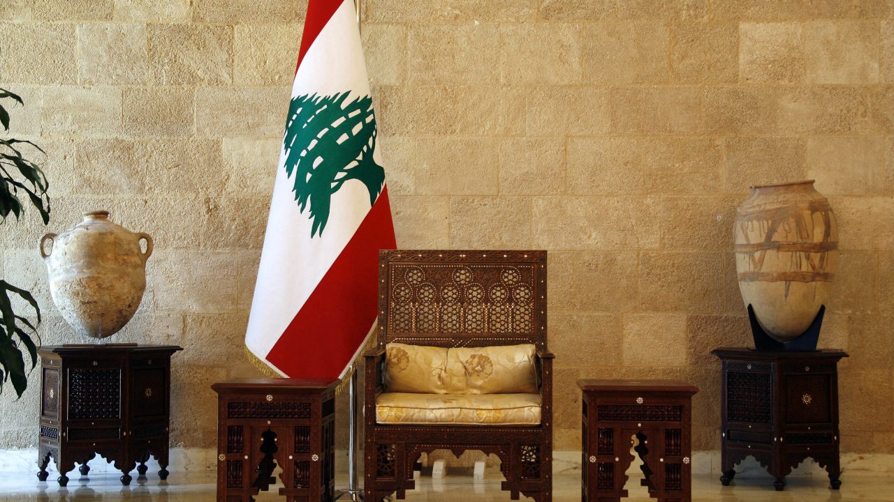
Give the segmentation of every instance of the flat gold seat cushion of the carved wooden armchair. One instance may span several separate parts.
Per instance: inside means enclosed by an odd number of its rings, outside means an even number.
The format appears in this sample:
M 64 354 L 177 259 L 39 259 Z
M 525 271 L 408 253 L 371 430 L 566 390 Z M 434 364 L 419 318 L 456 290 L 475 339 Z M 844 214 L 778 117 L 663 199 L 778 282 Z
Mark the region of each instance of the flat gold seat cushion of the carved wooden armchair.
M 437 395 L 384 392 L 375 399 L 376 423 L 536 425 L 539 394 Z

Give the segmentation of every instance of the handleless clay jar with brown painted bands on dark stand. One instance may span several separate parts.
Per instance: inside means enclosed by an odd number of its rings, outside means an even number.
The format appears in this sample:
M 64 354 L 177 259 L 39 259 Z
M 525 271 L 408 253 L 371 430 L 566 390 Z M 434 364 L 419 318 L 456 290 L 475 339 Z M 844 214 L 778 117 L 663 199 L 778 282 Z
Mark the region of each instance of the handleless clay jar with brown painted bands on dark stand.
M 752 187 L 736 216 L 736 272 L 745 305 L 773 339 L 803 334 L 831 292 L 838 222 L 814 180 Z

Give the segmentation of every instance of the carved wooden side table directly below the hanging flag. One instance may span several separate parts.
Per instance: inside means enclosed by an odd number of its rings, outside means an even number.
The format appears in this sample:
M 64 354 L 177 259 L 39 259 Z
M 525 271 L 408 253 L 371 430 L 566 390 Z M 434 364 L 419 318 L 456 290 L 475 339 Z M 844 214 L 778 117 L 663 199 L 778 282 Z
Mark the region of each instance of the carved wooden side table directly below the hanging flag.
M 270 489 L 288 502 L 333 500 L 338 381 L 245 379 L 215 383 L 217 500 L 251 502 Z

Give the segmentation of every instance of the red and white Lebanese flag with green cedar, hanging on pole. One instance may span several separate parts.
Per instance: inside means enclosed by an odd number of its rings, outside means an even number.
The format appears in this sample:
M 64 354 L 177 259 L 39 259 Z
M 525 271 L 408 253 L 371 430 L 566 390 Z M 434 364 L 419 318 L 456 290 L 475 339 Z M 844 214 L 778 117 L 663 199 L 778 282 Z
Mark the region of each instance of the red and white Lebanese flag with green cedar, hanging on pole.
M 352 0 L 310 0 L 245 344 L 283 376 L 342 378 L 395 248 Z

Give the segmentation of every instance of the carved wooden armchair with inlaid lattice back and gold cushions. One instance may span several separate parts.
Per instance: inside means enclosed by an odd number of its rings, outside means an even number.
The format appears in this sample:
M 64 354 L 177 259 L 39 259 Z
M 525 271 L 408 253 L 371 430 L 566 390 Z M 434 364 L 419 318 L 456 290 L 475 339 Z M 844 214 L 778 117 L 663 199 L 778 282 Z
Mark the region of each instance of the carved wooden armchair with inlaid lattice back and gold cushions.
M 552 500 L 552 354 L 546 345 L 545 251 L 382 251 L 377 330 L 378 344 L 365 354 L 367 502 L 381 502 L 394 492 L 404 498 L 406 490 L 415 488 L 413 465 L 418 457 L 435 449 L 449 449 L 457 456 L 464 450 L 493 453 L 506 478 L 502 489 L 509 490 L 513 500 L 519 493 L 539 502 Z M 444 357 L 450 364 L 462 364 L 458 354 L 465 354 L 460 357 L 468 363 L 469 354 L 490 350 L 478 347 L 505 353 L 514 349 L 504 346 L 516 346 L 531 356 L 530 372 L 536 374 L 531 375 L 527 394 L 488 394 L 480 389 L 466 396 L 455 396 L 449 389 L 437 394 L 394 392 L 389 389 L 394 381 L 389 381 L 388 364 L 396 364 L 398 358 L 386 357 L 392 354 L 386 350 L 389 344 L 443 347 L 440 350 L 451 351 Z M 488 372 L 504 371 L 496 361 L 488 364 L 485 361 Z M 464 375 L 461 368 L 452 373 L 454 384 L 470 374 Z M 489 400 L 493 396 L 525 402 L 513 413 L 496 413 Z M 408 397 L 435 407 L 469 399 L 467 403 L 477 403 L 481 409 L 467 405 L 461 417 L 444 409 L 424 410 L 421 417 L 384 413 L 385 400 Z M 523 413 L 514 413 L 519 410 Z M 512 418 L 506 422 L 509 415 Z

